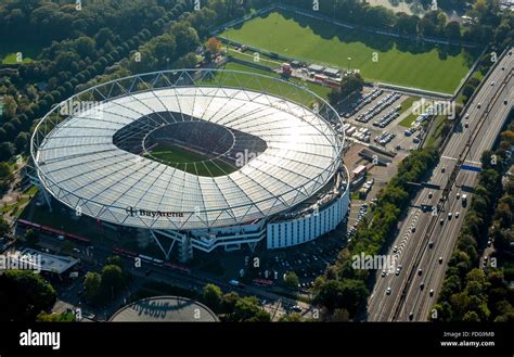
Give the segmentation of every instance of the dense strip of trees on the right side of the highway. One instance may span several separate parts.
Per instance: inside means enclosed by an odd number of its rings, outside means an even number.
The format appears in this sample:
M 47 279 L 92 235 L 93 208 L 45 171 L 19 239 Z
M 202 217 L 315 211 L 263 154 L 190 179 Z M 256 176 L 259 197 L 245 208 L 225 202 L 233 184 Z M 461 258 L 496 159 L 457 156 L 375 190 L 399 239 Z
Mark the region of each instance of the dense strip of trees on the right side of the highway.
M 502 196 L 502 175 L 510 157 L 507 152 L 514 145 L 514 124 L 501 138 L 499 149 L 484 153 L 481 158 L 484 170 L 434 306 L 436 320 L 514 321 L 514 294 L 507 284 L 514 279 L 512 181 Z M 480 269 L 480 254 L 491 238 L 496 250 L 491 263 L 494 263 Z

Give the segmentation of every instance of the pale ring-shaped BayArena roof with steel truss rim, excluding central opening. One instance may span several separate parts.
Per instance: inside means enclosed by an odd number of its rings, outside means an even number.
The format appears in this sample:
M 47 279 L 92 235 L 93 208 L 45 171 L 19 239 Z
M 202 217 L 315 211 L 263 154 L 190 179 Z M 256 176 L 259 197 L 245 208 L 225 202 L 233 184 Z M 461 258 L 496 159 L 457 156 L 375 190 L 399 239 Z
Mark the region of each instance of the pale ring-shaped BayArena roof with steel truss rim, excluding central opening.
M 120 150 L 113 136 L 159 112 L 249 132 L 268 149 L 234 173 L 202 177 Z M 157 120 L 155 115 L 157 115 Z M 116 79 L 56 105 L 37 125 L 30 152 L 40 183 L 81 214 L 114 224 L 189 230 L 241 225 L 297 205 L 342 165 L 337 112 L 279 78 L 181 69 Z

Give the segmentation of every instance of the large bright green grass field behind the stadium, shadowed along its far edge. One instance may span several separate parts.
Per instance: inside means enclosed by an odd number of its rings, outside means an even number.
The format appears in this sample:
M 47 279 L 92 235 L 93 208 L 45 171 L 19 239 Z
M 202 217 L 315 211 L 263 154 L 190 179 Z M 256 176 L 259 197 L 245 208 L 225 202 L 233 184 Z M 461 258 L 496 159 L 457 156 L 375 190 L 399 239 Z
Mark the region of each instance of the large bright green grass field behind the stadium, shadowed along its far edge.
M 288 12 L 256 17 L 220 36 L 339 68 L 346 68 L 351 58 L 350 67 L 359 68 L 368 80 L 445 93 L 458 88 L 480 52 L 344 29 Z

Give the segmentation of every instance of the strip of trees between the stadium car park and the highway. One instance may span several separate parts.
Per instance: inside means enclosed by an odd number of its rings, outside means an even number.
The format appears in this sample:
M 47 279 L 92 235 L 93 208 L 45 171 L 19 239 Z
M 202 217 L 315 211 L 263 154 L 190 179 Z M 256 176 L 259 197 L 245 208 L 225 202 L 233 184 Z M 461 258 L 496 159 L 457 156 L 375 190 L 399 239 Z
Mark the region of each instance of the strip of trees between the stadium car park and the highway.
M 351 266 L 352 257 L 361 253 L 376 255 L 386 247 L 387 239 L 396 230 L 401 214 L 414 195 L 408 182 L 422 181 L 436 164 L 437 157 L 436 149 L 427 148 L 416 150 L 401 161 L 397 175 L 381 191 L 372 213 L 358 227 L 335 265 L 324 276 L 317 278 L 314 303 L 326 308 L 327 316 L 337 313 L 351 319 L 365 305 L 371 271 L 355 269 Z

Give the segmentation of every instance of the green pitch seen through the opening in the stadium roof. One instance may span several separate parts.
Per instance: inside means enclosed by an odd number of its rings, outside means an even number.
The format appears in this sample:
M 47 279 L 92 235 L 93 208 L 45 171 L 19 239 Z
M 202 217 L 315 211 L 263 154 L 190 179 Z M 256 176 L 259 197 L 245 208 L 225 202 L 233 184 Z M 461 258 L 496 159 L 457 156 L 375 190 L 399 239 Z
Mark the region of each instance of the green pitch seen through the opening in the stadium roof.
M 159 145 L 151 151 L 151 155 L 169 166 L 198 176 L 216 177 L 237 170 L 220 160 L 209 161 L 200 153 L 177 145 Z

